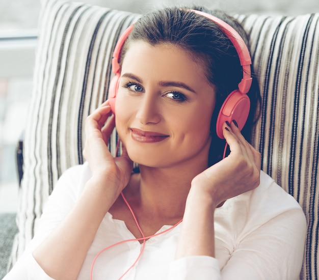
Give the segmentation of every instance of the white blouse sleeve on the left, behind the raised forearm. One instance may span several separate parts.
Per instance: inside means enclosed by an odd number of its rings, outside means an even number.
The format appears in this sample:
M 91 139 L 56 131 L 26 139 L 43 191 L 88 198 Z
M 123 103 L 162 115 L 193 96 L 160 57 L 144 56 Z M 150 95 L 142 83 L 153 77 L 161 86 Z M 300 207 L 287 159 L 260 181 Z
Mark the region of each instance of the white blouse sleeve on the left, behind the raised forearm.
M 81 193 L 82 185 L 84 185 L 84 177 L 89 176 L 88 172 L 83 172 L 83 170 L 87 169 L 84 169 L 83 165 L 77 165 L 71 167 L 60 177 L 45 204 L 34 238 L 4 280 L 52 279 L 33 258 L 32 252 L 58 226 L 75 204 Z

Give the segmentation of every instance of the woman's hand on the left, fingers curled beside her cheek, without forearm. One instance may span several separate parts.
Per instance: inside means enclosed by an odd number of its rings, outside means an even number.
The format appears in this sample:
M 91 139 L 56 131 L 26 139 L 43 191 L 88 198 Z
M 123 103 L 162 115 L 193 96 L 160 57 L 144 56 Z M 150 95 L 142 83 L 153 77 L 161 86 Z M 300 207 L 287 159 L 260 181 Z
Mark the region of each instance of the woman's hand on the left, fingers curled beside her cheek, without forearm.
M 108 149 L 108 142 L 115 127 L 109 101 L 105 101 L 86 120 L 86 143 L 83 155 L 89 163 L 92 180 L 108 186 L 116 186 L 117 195 L 127 185 L 132 161 L 122 146 L 122 155 L 114 158 Z

